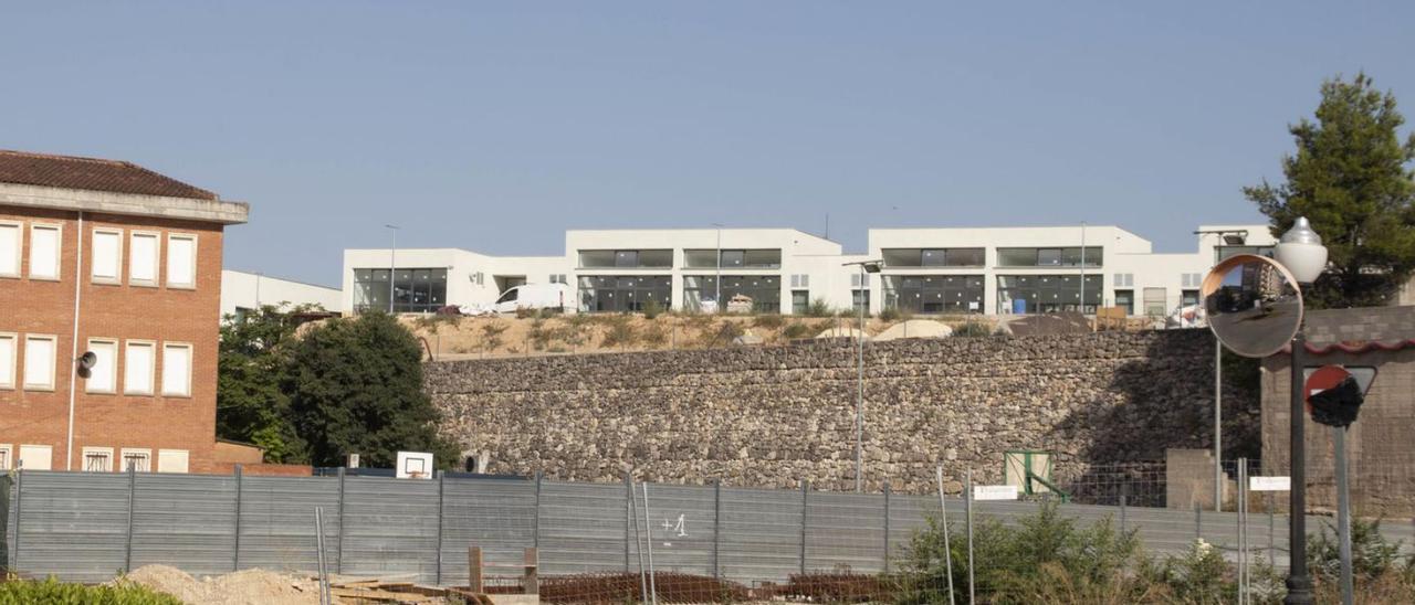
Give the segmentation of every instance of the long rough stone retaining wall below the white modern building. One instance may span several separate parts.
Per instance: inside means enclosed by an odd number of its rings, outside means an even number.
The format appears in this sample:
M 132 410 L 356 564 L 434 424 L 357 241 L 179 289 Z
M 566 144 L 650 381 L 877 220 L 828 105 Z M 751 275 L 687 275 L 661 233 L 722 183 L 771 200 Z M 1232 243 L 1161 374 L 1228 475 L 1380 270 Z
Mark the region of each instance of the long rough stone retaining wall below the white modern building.
M 866 345 L 866 489 L 996 481 L 1007 450 L 1075 472 L 1207 447 L 1213 352 L 1199 329 Z M 426 389 L 488 472 L 853 489 L 856 372 L 849 345 L 740 346 L 433 362 Z

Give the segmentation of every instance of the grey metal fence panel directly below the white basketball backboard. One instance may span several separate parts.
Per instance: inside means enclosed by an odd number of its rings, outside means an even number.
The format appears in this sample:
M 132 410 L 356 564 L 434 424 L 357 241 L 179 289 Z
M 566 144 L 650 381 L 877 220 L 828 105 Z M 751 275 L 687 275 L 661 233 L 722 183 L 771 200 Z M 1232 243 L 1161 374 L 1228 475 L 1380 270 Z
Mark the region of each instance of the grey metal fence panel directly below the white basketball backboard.
M 344 574 L 437 580 L 436 481 L 345 476 L 344 523 Z

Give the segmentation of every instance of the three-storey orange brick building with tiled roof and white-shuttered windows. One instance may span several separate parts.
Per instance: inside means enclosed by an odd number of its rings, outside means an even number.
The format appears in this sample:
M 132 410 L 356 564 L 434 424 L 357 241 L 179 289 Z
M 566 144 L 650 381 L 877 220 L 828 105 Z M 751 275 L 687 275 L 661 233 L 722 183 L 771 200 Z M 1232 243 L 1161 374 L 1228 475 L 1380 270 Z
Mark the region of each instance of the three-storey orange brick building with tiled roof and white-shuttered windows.
M 246 213 L 126 161 L 0 151 L 0 468 L 215 466 L 222 230 Z

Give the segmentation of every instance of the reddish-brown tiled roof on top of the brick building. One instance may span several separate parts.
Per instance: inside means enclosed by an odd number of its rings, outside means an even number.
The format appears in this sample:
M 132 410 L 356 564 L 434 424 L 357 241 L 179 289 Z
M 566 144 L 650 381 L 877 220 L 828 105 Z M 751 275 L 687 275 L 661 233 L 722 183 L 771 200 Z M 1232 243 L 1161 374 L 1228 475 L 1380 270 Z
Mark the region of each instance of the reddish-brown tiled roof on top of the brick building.
M 218 199 L 216 194 L 164 177 L 133 163 L 28 151 L 0 150 L 0 182 L 112 191 L 116 194 Z

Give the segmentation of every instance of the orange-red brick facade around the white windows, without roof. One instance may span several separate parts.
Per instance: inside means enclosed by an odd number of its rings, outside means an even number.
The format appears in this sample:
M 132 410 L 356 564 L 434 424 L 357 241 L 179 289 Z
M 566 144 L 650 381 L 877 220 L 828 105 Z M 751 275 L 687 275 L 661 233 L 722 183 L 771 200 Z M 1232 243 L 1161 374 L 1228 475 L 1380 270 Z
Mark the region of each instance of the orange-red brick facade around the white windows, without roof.
M 113 468 L 120 471 L 122 448 L 151 450 L 157 465 L 158 450 L 187 450 L 190 472 L 212 471 L 216 414 L 216 336 L 221 300 L 222 226 L 192 221 L 156 219 L 142 216 L 83 215 L 79 232 L 78 213 L 34 211 L 0 205 L 0 221 L 18 221 L 24 229 L 21 277 L 0 277 L 0 332 L 18 335 L 16 389 L 0 389 L 0 444 L 14 448 L 21 444 L 51 445 L 52 468 L 68 464 L 67 428 L 69 382 L 75 379 L 72 359 L 74 290 L 79 280 L 82 305 L 79 311 L 79 352 L 89 338 L 119 341 L 116 390 L 119 394 L 85 393 L 83 379 L 75 390 L 74 462 L 82 466 L 83 447 L 113 450 Z M 58 223 L 62 228 L 59 281 L 28 278 L 30 225 Z M 93 228 L 123 229 L 122 284 L 92 283 Z M 129 247 L 133 229 L 160 232 L 158 287 L 129 284 Z M 197 235 L 195 288 L 181 290 L 166 286 L 167 235 Z M 83 263 L 75 269 L 82 235 Z M 55 389 L 30 392 L 23 387 L 24 335 L 55 335 Z M 154 351 L 154 396 L 122 394 L 123 342 L 127 339 L 157 341 Z M 161 343 L 192 345 L 191 397 L 161 396 Z M 11 462 L 13 462 L 11 458 Z

